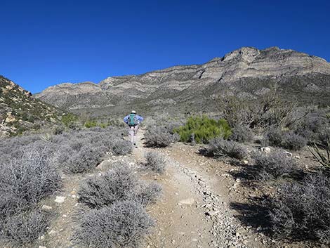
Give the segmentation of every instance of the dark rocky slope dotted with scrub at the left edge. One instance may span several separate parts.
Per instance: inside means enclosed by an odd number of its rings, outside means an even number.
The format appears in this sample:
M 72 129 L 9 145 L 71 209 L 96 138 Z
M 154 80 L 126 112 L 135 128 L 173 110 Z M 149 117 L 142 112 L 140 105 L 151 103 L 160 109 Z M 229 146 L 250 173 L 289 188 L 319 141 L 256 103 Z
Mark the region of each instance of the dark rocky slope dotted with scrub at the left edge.
M 60 122 L 62 112 L 0 76 L 0 137 Z

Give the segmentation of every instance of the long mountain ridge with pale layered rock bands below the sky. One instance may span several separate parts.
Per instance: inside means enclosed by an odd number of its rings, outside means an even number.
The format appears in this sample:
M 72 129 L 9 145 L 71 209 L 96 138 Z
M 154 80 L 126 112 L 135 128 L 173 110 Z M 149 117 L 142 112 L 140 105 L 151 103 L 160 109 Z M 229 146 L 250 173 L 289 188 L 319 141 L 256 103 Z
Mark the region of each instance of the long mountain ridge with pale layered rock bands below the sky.
M 284 97 L 330 104 L 330 63 L 277 47 L 244 47 L 203 65 L 175 66 L 98 84 L 58 84 L 36 97 L 95 115 L 128 110 L 213 110 L 219 97 L 256 98 L 277 87 Z

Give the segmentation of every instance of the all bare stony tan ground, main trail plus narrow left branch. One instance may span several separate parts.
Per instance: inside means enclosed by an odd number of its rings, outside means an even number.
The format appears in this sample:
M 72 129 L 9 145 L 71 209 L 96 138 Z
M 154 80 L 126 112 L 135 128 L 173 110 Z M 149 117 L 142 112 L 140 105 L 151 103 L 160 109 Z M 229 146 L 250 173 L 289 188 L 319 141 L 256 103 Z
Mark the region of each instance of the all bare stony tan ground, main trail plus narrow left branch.
M 39 237 L 37 247 L 79 248 L 70 240 L 74 213 L 81 207 L 77 202 L 79 183 L 88 176 L 107 171 L 115 161 L 135 167 L 140 178 L 157 181 L 163 188 L 158 202 L 147 209 L 156 226 L 143 247 L 302 247 L 302 244 L 278 243 L 235 218 L 239 213 L 231 203 L 246 202 L 248 195 L 258 194 L 257 189 L 246 189 L 239 178 L 231 176 L 238 167 L 203 157 L 197 152 L 197 146 L 183 143 L 170 148 L 145 148 L 143 133 L 143 130 L 138 133 L 138 148 L 132 155 L 109 155 L 92 174 L 63 175 L 62 191 L 43 203 L 44 211 L 53 214 L 53 221 L 48 232 Z M 143 169 L 144 154 L 149 150 L 166 156 L 163 175 Z

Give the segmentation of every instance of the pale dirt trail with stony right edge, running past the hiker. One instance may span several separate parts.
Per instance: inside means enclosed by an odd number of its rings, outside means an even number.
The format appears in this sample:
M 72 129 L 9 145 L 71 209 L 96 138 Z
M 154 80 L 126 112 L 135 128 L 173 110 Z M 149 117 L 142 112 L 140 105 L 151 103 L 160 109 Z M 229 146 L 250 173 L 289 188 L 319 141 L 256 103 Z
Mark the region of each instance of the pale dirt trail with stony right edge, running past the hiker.
M 138 133 L 138 148 L 133 151 L 136 161 L 143 161 L 148 150 L 161 152 L 168 159 L 166 174 L 145 175 L 163 187 L 163 196 L 149 209 L 157 220 L 148 238 L 149 247 L 265 247 L 234 218 L 223 178 L 204 166 L 208 158 L 180 143 L 171 148 L 145 148 L 143 134 Z

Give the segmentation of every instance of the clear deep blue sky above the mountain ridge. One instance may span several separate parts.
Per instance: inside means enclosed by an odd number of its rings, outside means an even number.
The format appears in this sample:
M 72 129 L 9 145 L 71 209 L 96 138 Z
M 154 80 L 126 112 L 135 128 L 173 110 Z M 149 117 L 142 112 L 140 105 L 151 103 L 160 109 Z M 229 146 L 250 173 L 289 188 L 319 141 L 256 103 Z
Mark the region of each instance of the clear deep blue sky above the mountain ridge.
M 205 63 L 242 46 L 330 60 L 329 1 L 1 0 L 0 8 L 0 74 L 34 93 Z

